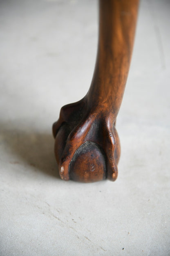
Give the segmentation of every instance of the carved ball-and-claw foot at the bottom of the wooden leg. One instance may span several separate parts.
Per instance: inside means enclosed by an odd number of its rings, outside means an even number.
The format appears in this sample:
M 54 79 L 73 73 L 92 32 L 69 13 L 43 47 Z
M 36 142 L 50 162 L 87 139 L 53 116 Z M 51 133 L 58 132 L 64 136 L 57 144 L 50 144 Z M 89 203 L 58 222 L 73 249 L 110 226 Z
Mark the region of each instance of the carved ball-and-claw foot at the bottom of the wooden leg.
M 114 124 L 108 111 L 89 110 L 86 98 L 61 108 L 53 135 L 63 180 L 116 180 L 120 142 Z

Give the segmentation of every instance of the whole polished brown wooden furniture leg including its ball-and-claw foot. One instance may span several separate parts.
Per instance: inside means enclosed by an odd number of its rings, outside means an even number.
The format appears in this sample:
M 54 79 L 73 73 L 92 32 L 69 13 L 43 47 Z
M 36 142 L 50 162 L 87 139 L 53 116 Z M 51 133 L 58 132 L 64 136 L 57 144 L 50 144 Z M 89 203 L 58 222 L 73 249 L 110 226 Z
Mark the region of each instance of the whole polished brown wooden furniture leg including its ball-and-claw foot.
M 120 142 L 115 122 L 134 42 L 138 0 L 99 1 L 96 66 L 87 95 L 65 105 L 53 125 L 55 155 L 64 180 L 115 181 Z

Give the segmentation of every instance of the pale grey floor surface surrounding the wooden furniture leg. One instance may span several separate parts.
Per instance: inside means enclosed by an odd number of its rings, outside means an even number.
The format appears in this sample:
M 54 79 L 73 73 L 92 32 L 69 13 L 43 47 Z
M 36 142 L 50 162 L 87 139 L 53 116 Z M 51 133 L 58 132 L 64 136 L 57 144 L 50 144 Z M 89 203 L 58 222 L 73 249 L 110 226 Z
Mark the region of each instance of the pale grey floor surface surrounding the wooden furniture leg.
M 0 255 L 170 255 L 170 1 L 142 0 L 116 182 L 64 182 L 51 125 L 87 92 L 97 2 L 0 2 Z M 123 249 L 124 248 L 124 249 Z

